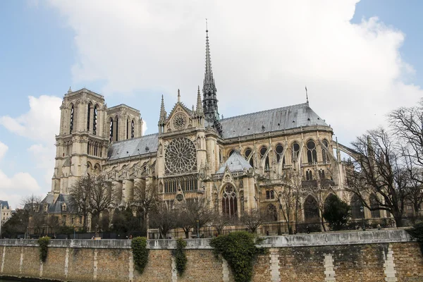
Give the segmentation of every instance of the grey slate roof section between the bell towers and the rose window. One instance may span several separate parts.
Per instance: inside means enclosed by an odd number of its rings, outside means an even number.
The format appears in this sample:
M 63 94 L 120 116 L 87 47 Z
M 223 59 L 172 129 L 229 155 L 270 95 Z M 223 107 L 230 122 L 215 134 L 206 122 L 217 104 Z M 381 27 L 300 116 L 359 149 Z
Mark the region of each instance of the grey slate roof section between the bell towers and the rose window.
M 109 152 L 107 152 L 107 157 L 109 160 L 114 160 L 157 152 L 158 145 L 159 133 L 144 135 L 139 138 L 113 143 Z M 148 147 L 148 150 L 146 150 L 146 147 Z

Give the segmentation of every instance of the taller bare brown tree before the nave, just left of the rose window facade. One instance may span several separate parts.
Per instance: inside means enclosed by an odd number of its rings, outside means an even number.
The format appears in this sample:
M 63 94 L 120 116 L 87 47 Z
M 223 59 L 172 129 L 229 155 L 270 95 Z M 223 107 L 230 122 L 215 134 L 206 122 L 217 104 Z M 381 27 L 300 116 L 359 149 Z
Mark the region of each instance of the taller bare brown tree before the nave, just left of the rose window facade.
M 149 183 L 148 185 L 145 184 L 145 181 L 135 182 L 134 204 L 137 206 L 140 214 L 142 214 L 147 229 L 149 228 L 149 213 L 157 203 L 158 197 L 159 190 L 156 182 Z

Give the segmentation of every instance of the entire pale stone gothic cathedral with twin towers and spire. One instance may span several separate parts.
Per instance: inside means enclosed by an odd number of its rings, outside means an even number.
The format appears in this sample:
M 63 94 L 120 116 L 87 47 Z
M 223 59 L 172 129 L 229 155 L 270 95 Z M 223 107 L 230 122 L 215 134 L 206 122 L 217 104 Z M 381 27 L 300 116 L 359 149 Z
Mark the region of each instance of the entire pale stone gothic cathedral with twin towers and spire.
M 82 176 L 111 180 L 114 189 L 121 190 L 123 206 L 133 200 L 137 182 L 156 183 L 159 198 L 171 204 L 206 197 L 226 216 L 260 209 L 274 213 L 275 221 L 283 221 L 275 191 L 286 185 L 290 171 L 297 172 L 305 187 L 324 183 L 348 198 L 343 192 L 348 166 L 341 161 L 341 151 L 351 152 L 333 140 L 333 129 L 308 99 L 221 118 L 206 32 L 204 81 L 197 103 L 189 109 L 178 90 L 178 102 L 166 111 L 162 97 L 157 133 L 142 135 L 138 109 L 125 104 L 109 108 L 101 94 L 85 88 L 68 90 L 60 107 L 46 212 L 71 213 L 66 210 L 69 188 Z M 313 204 L 317 200 L 312 195 L 303 197 L 304 207 Z M 316 214 L 303 212 L 301 220 L 307 221 L 307 216 Z

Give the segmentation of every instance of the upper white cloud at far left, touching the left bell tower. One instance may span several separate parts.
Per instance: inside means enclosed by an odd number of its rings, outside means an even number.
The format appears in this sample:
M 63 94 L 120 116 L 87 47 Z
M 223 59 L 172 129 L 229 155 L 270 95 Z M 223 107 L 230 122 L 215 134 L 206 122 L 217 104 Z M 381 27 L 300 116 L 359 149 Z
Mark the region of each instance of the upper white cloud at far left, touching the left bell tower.
M 0 116 L 0 124 L 20 136 L 54 146 L 54 135 L 59 133 L 61 99 L 47 95 L 28 99 L 30 111 L 17 118 Z

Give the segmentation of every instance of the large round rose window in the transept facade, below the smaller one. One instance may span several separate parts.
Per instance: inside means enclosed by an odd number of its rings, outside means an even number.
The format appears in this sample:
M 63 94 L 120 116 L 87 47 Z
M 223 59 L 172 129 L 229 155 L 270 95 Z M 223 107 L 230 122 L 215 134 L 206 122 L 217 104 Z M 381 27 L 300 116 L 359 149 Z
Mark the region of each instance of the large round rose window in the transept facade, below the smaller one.
M 164 153 L 166 173 L 185 173 L 197 170 L 194 143 L 186 137 L 172 140 Z

